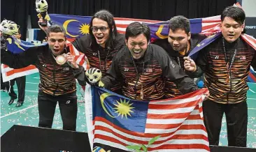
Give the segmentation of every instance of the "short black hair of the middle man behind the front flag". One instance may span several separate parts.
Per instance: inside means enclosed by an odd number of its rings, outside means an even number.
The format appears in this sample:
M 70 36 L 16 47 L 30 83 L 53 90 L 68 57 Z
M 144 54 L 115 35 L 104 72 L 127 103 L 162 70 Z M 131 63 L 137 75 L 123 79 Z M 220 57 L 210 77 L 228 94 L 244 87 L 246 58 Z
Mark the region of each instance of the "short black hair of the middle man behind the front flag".
M 134 38 L 140 34 L 143 34 L 147 38 L 148 42 L 150 41 L 150 28 L 147 24 L 141 24 L 140 22 L 132 22 L 126 28 L 125 39 Z

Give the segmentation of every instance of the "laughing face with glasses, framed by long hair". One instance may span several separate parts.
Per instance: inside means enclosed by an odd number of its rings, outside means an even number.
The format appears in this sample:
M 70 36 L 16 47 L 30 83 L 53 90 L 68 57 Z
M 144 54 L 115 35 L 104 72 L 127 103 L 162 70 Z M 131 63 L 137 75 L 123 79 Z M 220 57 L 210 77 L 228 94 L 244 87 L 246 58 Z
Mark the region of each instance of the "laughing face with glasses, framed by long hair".
M 94 38 L 97 44 L 105 48 L 106 42 L 109 38 L 109 32 L 110 32 L 108 23 L 99 18 L 94 18 L 94 20 L 92 20 L 91 28 L 92 28 L 92 34 L 94 35 Z

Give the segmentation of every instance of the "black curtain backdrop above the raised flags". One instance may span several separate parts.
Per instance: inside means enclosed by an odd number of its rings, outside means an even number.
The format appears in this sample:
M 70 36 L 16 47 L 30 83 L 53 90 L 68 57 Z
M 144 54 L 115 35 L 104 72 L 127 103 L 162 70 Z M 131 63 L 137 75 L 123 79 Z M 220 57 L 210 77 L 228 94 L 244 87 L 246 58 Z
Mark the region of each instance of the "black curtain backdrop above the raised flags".
M 23 40 L 26 38 L 27 21 L 38 28 L 36 0 L 1 1 L 1 21 L 12 20 L 21 26 Z M 222 10 L 236 0 L 47 0 L 48 13 L 92 16 L 98 10 L 109 10 L 115 17 L 148 20 L 169 20 L 175 15 L 188 18 L 220 15 Z

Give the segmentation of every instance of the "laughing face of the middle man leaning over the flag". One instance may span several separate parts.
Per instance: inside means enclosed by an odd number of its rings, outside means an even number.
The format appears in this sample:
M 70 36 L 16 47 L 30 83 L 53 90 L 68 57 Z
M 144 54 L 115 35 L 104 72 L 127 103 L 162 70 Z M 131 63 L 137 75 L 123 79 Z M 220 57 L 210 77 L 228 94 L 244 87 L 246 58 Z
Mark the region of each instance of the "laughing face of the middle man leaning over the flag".
M 128 38 L 125 43 L 134 59 L 141 59 L 148 47 L 148 40 L 143 33 L 134 38 Z

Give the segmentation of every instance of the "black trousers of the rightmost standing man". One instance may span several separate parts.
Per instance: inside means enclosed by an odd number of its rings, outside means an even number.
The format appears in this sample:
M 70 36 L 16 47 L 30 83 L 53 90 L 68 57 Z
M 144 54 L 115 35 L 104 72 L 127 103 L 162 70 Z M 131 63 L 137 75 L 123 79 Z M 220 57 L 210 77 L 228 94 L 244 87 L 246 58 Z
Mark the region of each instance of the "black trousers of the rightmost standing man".
M 228 146 L 246 147 L 248 123 L 247 102 L 221 104 L 206 100 L 203 102 L 203 112 L 204 124 L 208 132 L 210 145 L 219 144 L 222 116 L 225 113 Z

